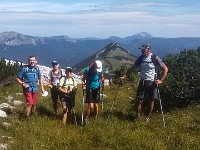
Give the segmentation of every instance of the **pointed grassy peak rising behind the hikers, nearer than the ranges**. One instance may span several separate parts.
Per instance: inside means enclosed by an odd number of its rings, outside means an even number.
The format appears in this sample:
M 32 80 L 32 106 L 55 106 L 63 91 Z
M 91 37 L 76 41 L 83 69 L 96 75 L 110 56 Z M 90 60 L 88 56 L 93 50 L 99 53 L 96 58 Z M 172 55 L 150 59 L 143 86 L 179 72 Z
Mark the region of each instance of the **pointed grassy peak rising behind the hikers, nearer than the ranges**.
M 105 73 L 109 74 L 122 65 L 126 65 L 127 67 L 132 65 L 136 60 L 136 56 L 122 48 L 116 42 L 111 42 L 94 55 L 75 65 L 73 67 L 74 71 L 77 73 L 81 72 L 85 66 L 90 65 L 95 60 L 102 61 Z

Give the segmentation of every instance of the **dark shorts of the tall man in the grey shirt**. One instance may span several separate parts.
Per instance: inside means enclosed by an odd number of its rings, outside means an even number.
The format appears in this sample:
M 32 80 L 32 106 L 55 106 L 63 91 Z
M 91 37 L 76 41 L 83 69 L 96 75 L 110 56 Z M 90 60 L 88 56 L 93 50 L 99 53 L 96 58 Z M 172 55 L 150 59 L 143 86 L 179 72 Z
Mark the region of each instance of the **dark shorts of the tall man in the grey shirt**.
M 158 99 L 157 85 L 154 81 L 140 80 L 137 98 L 139 100 L 156 100 Z

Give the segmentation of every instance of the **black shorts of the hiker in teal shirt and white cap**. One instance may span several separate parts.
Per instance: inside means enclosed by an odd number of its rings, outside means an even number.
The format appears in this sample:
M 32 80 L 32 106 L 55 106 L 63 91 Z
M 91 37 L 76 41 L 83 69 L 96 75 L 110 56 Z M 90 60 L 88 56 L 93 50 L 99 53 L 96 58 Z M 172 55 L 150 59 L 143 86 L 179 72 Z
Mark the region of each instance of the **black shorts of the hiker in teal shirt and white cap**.
M 86 88 L 85 103 L 99 103 L 100 102 L 100 89 Z

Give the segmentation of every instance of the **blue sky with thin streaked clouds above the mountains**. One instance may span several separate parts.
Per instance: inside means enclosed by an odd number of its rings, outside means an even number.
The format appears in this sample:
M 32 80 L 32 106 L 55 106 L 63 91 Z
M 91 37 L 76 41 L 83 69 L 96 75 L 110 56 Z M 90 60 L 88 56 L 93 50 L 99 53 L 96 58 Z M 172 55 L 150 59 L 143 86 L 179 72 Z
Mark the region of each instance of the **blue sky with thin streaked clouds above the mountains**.
M 0 32 L 72 38 L 200 37 L 199 0 L 0 0 Z

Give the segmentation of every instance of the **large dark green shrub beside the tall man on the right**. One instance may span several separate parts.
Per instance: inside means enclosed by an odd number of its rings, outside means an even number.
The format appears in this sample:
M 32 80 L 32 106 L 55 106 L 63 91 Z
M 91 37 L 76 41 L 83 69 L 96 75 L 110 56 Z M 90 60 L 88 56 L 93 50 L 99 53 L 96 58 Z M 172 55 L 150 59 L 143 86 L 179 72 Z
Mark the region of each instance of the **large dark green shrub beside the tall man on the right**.
M 200 102 L 200 47 L 168 56 L 164 62 L 169 73 L 161 92 L 167 106 Z

